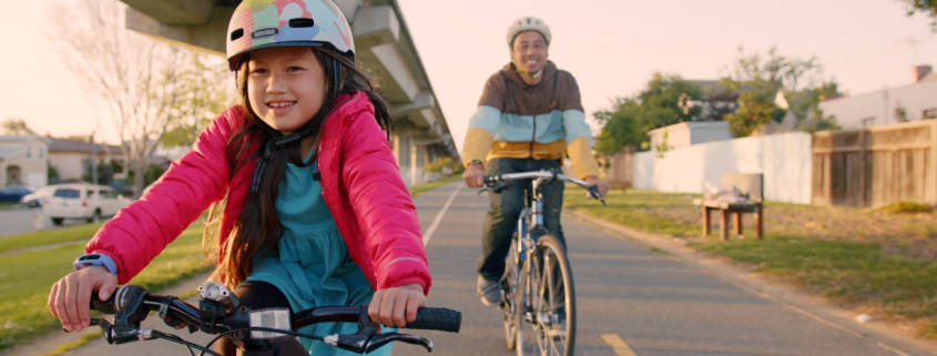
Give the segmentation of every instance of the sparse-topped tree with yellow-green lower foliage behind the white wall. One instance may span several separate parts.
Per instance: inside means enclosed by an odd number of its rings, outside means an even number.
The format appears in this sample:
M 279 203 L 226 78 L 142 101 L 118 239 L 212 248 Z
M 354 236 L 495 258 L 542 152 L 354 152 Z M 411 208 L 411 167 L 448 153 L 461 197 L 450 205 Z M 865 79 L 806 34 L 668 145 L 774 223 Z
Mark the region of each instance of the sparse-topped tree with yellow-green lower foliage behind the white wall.
M 737 109 L 725 115 L 733 135 L 746 136 L 772 120 L 781 121 L 786 110 L 775 104 L 777 93 L 784 94 L 787 109 L 798 120 L 828 120 L 818 104 L 822 98 L 837 94 L 837 84 L 821 79 L 823 70 L 816 57 L 784 57 L 777 53 L 776 47 L 766 57 L 745 54 L 743 48 L 739 52 L 732 73 L 720 81 L 739 93 Z

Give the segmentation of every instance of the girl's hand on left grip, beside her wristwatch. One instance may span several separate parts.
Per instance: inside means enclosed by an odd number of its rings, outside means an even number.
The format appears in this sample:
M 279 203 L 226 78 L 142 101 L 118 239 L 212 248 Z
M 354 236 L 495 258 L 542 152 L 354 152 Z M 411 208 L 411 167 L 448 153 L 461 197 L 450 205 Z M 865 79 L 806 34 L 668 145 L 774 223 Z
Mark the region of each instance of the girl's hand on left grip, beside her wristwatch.
M 116 285 L 118 276 L 104 267 L 93 266 L 72 272 L 52 285 L 52 291 L 49 292 L 49 312 L 59 318 L 65 330 L 82 330 L 91 325 L 88 314 L 91 292 L 99 291 L 99 298 L 106 301 L 114 293 Z

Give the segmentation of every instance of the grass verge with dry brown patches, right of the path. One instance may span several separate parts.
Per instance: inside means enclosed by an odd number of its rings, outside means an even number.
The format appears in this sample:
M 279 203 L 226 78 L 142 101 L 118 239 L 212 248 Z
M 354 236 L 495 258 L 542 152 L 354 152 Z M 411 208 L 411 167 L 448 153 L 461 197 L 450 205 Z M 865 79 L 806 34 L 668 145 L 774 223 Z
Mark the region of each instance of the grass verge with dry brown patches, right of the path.
M 635 230 L 679 236 L 693 248 L 783 277 L 841 305 L 909 323 L 920 335 L 937 339 L 937 260 L 904 251 L 908 245 L 927 246 L 924 242 L 933 234 L 926 227 L 933 226 L 933 215 L 887 215 L 862 208 L 768 202 L 764 241 L 755 240 L 748 228 L 746 238 L 719 242 L 717 232 L 709 238 L 700 236 L 700 213 L 692 206 L 693 195 L 613 190 L 605 199 L 608 206 L 602 206 L 574 187 L 566 192 L 566 208 Z M 839 226 L 804 227 L 815 222 L 816 215 L 827 213 L 833 217 L 821 221 L 838 223 L 845 232 L 837 232 Z M 867 233 L 882 225 L 887 225 L 884 232 Z M 892 241 L 898 238 L 909 242 Z

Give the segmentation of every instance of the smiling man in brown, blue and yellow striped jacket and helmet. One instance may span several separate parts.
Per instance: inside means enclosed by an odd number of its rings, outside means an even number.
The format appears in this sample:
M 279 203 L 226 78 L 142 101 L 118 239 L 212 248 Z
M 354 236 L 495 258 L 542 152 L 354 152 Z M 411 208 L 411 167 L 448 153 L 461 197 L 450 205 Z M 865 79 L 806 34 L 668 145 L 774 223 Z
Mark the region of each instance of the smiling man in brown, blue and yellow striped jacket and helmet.
M 547 60 L 550 39 L 550 28 L 533 17 L 520 18 L 508 29 L 511 62 L 486 82 L 462 144 L 466 185 L 481 187 L 486 173 L 559 170 L 568 155 L 576 177 L 595 184 L 600 195 L 608 192 L 591 154 L 579 85 L 572 74 Z M 478 293 L 482 304 L 498 306 L 505 257 L 523 206 L 523 184 L 511 183 L 500 192 L 489 192 L 489 197 Z M 566 247 L 560 226 L 562 204 L 563 183 L 547 184 L 543 223 Z

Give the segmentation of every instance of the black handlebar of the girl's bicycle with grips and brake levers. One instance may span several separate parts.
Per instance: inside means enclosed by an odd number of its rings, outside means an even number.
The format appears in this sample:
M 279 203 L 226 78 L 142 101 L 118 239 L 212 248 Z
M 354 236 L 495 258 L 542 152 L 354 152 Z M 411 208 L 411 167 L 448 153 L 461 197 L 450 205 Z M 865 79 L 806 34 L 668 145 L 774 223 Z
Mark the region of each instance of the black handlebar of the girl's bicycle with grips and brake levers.
M 224 293 L 221 297 L 217 294 L 206 295 L 203 288 Z M 368 317 L 367 304 L 323 306 L 291 314 L 286 308 L 251 311 L 246 306 L 240 306 L 234 294 L 220 284 L 206 283 L 200 286 L 198 291 L 201 294 L 198 307 L 172 295 L 150 294 L 145 288 L 136 285 L 121 286 L 108 301 L 103 302 L 98 298 L 98 292 L 93 292 L 91 308 L 104 314 L 113 314 L 114 322 L 112 324 L 104 318 L 92 318 L 91 322 L 92 325 L 101 327 L 109 344 L 163 338 L 213 355 L 216 354 L 211 350 L 211 345 L 225 335 L 241 339 L 266 339 L 281 335 L 294 335 L 319 339 L 330 346 L 359 354 L 371 352 L 394 340 L 420 345 L 427 350 L 432 350 L 432 342 L 421 336 L 398 333 L 378 334 L 378 325 Z M 172 334 L 141 328 L 140 322 L 145 319 L 150 312 L 159 312 L 160 318 L 174 328 L 187 327 L 190 333 L 201 329 L 218 336 L 203 347 Z M 327 336 L 295 332 L 304 326 L 326 322 L 357 323 L 358 332 Z M 417 311 L 417 318 L 407 323 L 404 328 L 458 333 L 460 325 L 460 312 L 439 307 L 420 307 Z

